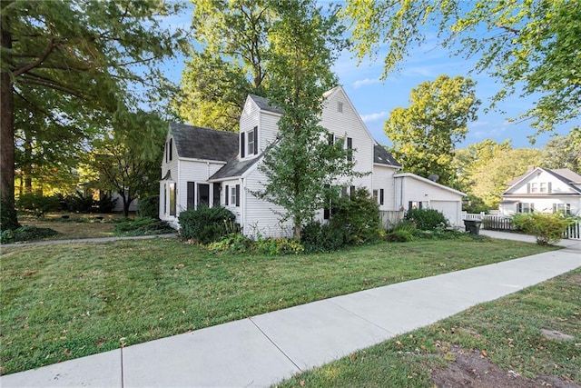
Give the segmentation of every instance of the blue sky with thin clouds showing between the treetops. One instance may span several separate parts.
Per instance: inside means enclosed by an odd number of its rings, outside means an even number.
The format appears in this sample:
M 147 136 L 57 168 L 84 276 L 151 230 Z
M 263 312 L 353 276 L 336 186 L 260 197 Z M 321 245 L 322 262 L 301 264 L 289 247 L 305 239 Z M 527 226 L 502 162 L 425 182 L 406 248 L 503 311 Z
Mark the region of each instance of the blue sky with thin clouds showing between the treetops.
M 166 23 L 170 25 L 189 26 L 191 11 L 186 10 L 180 16 L 172 16 Z M 409 57 L 399 66 L 399 71 L 380 80 L 383 73 L 383 57 L 385 52 L 379 50 L 376 60 L 365 59 L 361 64 L 350 52 L 344 52 L 334 66 L 339 75 L 340 85 L 343 85 L 351 102 L 367 124 L 370 133 L 380 144 L 389 144 L 389 139 L 383 132 L 383 124 L 389 113 L 396 107 L 409 106 L 409 93 L 412 88 L 426 81 L 434 81 L 438 75 L 470 76 L 477 82 L 477 97 L 482 101 L 478 112 L 478 120 L 468 124 L 466 140 L 457 144 L 464 148 L 468 144 L 479 143 L 492 139 L 498 143 L 511 139 L 513 147 L 539 147 L 547 143 L 550 134 L 537 136 L 536 144 L 529 143 L 528 137 L 536 133 L 528 122 L 509 122 L 508 118 L 517 118 L 534 102 L 534 97 L 520 98 L 512 95 L 497 110 L 485 113 L 489 98 L 500 88 L 498 80 L 486 74 L 470 74 L 475 61 L 467 61 L 459 56 L 448 55 L 448 50 L 438 47 L 435 41 L 414 47 L 409 51 Z M 168 75 L 174 82 L 179 82 L 185 58 L 178 58 L 166 66 Z M 195 123 L 192 123 L 195 124 Z M 581 124 L 581 118 L 576 124 Z M 556 134 L 567 134 L 573 124 L 563 124 L 556 128 Z

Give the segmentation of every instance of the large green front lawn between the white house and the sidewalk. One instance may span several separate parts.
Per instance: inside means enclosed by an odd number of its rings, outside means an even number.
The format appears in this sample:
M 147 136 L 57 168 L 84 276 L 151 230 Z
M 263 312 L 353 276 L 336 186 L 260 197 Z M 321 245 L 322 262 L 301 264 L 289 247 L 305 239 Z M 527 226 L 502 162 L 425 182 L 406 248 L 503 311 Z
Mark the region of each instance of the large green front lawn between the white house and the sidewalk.
M 280 257 L 163 239 L 3 247 L 2 373 L 549 249 L 469 237 Z

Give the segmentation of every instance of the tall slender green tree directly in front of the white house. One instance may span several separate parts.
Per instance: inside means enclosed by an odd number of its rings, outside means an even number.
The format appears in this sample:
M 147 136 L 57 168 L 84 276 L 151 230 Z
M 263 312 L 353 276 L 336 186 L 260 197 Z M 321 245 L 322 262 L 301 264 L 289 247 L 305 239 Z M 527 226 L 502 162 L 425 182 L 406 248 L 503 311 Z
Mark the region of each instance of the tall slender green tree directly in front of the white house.
M 273 2 L 277 20 L 270 30 L 271 104 L 284 114 L 275 144 L 265 153 L 261 172 L 264 188 L 255 193 L 285 209 L 300 240 L 304 223 L 323 208 L 340 176 L 352 177 L 353 164 L 343 144 L 329 144 L 320 126 L 322 95 L 336 85 L 330 66 L 342 48 L 337 18 L 322 15 L 315 2 Z M 329 187 L 327 190 L 325 187 Z

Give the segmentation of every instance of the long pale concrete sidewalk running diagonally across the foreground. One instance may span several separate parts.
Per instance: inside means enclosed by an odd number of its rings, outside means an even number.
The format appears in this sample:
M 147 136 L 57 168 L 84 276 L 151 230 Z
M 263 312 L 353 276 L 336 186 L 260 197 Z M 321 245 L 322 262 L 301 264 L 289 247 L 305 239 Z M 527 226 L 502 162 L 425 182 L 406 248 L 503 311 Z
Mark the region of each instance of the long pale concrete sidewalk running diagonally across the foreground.
M 566 241 L 566 249 L 559 251 L 391 284 L 9 374 L 0 378 L 0 385 L 268 386 L 580 267 L 578 243 Z

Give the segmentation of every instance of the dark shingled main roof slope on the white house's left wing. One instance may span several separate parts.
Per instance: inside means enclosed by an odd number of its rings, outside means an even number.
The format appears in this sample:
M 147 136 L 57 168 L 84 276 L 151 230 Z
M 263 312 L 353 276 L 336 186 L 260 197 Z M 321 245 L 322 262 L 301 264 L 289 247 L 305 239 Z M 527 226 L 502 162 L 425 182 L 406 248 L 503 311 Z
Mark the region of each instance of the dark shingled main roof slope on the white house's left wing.
M 228 162 L 238 154 L 238 133 L 170 123 L 178 156 Z

